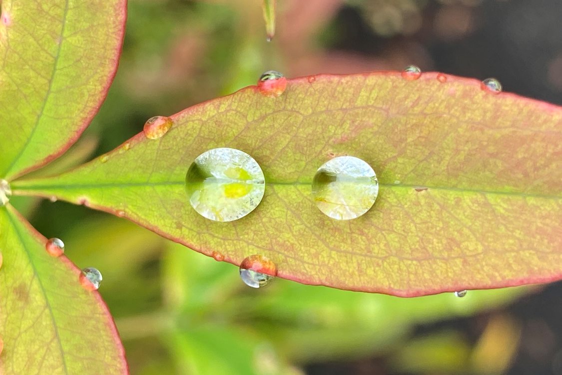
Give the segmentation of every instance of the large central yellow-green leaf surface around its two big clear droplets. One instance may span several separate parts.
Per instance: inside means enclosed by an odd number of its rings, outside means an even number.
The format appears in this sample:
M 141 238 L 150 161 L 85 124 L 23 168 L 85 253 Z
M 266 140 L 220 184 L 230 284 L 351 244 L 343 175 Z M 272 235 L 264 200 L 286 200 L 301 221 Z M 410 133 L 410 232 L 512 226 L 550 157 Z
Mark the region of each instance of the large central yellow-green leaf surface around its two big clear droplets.
M 446 79 L 446 83 L 443 83 Z M 562 109 L 425 73 L 288 80 L 278 98 L 243 89 L 172 116 L 58 177 L 12 184 L 125 216 L 230 263 L 259 254 L 308 284 L 418 296 L 562 276 Z M 189 205 L 185 174 L 215 147 L 252 155 L 266 189 L 250 215 L 211 222 Z M 322 214 L 316 170 L 352 155 L 377 172 L 375 205 L 355 220 Z

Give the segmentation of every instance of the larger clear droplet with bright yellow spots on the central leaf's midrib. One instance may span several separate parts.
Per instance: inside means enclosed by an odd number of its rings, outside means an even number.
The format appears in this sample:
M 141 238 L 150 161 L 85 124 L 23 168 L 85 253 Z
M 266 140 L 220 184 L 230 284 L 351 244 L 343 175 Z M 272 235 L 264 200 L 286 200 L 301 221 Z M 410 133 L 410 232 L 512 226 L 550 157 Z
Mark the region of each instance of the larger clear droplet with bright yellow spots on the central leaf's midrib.
M 265 192 L 260 165 L 246 152 L 214 148 L 193 161 L 185 175 L 189 203 L 207 219 L 232 222 L 251 213 Z

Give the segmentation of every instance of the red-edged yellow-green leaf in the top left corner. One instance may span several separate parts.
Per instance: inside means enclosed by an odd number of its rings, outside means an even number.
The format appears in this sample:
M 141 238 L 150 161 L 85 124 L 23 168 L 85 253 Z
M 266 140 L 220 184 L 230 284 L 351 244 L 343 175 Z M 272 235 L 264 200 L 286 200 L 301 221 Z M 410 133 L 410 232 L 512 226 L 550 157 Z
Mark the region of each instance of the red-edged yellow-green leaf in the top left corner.
M 126 0 L 2 1 L 0 177 L 47 164 L 78 139 L 115 75 L 125 14 Z

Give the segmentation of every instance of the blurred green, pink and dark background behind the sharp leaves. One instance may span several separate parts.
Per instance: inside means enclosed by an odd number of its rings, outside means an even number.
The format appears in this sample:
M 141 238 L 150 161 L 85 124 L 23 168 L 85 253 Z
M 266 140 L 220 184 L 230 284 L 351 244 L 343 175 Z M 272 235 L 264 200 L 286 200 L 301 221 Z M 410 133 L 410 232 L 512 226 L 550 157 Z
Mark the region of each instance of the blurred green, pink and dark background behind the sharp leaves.
M 81 140 L 38 174 L 71 168 L 146 119 L 255 84 L 265 70 L 422 70 L 562 103 L 560 0 L 278 0 L 267 43 L 260 0 L 129 0 L 119 71 Z M 81 268 L 103 273 L 133 374 L 562 374 L 562 284 L 400 299 L 275 279 L 124 219 L 12 199 Z M 53 220 L 56 218 L 56 220 Z M 337 272 L 337 270 L 334 270 Z

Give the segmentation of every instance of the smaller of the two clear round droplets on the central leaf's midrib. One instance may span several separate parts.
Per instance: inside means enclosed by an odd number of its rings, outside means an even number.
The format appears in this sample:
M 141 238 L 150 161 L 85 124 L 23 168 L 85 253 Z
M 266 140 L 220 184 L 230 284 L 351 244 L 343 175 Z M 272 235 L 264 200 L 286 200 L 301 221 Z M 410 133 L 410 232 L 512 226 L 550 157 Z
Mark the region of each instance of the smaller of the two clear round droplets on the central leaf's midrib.
M 349 220 L 365 214 L 375 203 L 379 184 L 375 171 L 353 156 L 325 162 L 312 180 L 316 206 L 332 219 Z

